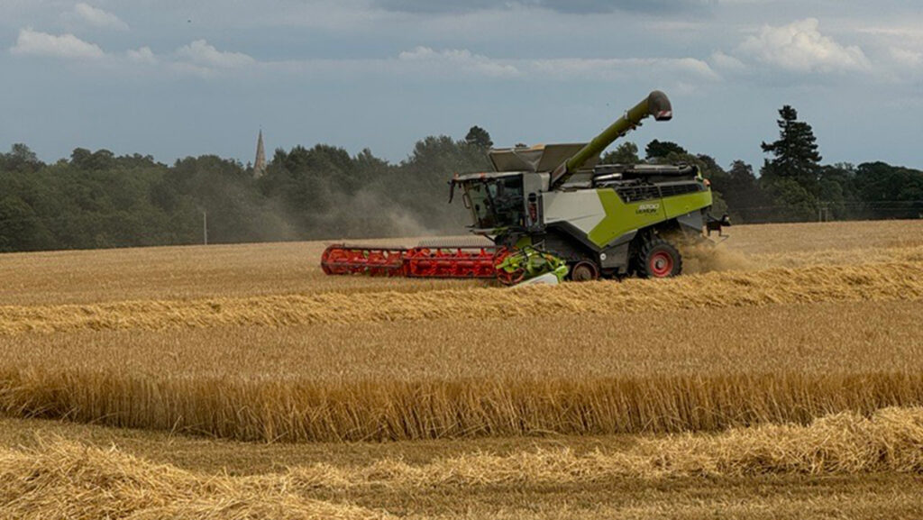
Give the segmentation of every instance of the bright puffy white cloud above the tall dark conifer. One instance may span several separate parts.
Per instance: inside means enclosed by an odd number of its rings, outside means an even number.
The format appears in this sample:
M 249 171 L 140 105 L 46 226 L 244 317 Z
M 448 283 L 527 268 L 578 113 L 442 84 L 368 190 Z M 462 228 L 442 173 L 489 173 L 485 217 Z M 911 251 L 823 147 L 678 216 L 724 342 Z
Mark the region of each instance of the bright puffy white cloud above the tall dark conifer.
M 817 18 L 782 27 L 765 25 L 738 47 L 738 53 L 763 64 L 795 72 L 869 70 L 869 59 L 857 46 L 843 46 L 824 36 Z

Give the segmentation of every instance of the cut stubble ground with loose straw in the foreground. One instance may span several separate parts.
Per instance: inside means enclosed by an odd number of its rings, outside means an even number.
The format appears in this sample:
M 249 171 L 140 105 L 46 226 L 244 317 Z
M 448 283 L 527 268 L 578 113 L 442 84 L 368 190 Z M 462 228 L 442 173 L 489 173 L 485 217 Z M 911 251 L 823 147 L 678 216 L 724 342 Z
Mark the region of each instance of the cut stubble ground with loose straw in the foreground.
M 921 418 L 889 409 L 714 436 L 359 445 L 6 419 L 0 441 L 17 447 L 0 448 L 0 515 L 914 518 Z

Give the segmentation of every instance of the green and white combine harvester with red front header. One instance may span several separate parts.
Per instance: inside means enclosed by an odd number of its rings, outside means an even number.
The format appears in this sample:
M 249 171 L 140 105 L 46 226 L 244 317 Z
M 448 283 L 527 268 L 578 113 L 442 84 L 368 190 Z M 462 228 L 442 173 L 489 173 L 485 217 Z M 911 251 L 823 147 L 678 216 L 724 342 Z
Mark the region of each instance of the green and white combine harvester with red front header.
M 673 116 L 663 92 L 651 92 L 589 143 L 491 150 L 494 172 L 456 175 L 450 202 L 461 189 L 471 232 L 490 244 L 335 244 L 324 251 L 321 268 L 503 284 L 675 276 L 682 257 L 670 237 L 701 240 L 706 229 L 720 232 L 729 223 L 708 214 L 712 190 L 695 166 L 596 164 L 606 147 L 648 116 Z

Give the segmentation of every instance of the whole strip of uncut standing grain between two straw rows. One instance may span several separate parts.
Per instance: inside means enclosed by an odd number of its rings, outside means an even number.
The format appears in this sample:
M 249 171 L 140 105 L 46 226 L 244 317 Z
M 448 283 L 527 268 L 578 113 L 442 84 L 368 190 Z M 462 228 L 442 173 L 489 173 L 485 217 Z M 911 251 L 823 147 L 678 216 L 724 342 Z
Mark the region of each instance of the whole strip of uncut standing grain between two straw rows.
M 805 421 L 919 403 L 921 312 L 895 301 L 6 336 L 0 411 L 290 441 Z

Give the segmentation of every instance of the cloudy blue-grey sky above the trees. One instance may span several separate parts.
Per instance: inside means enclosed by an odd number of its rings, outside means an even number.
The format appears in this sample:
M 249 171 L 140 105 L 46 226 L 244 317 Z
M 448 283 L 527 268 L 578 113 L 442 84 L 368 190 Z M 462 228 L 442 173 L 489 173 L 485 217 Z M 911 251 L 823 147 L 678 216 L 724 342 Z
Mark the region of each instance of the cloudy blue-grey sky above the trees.
M 0 150 L 173 163 L 429 135 L 592 139 L 654 89 L 673 140 L 759 169 L 790 104 L 824 163 L 923 168 L 923 9 L 880 0 L 0 0 Z

